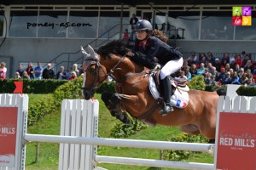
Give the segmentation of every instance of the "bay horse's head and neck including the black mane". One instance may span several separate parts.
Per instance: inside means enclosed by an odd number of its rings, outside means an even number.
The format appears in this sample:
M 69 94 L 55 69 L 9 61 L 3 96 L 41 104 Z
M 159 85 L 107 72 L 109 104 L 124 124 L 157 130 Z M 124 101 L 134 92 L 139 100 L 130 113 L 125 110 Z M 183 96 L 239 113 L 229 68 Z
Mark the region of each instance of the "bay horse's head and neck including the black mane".
M 116 82 L 123 82 L 126 74 L 135 71 L 135 66 L 130 59 L 125 57 L 128 49 L 125 43 L 119 40 L 108 42 L 95 52 L 88 46 L 89 54 L 81 48 L 84 54 L 84 83 L 82 94 L 84 99 L 93 97 L 95 90 L 99 88 L 108 76 Z

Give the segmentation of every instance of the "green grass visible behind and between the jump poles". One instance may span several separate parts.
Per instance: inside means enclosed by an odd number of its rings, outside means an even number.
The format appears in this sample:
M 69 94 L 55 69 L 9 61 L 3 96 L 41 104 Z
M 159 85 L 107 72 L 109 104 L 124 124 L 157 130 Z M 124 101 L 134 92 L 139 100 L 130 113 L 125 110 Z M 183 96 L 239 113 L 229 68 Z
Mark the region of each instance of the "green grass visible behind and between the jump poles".
M 38 99 L 40 96 L 30 96 L 30 102 L 33 99 Z M 99 132 L 98 136 L 109 138 L 110 130 L 116 122 L 115 118 L 110 116 L 110 113 L 103 105 L 100 95 L 96 94 L 96 99 L 100 101 L 100 116 L 99 116 Z M 61 127 L 61 110 L 44 116 L 38 123 L 32 127 L 28 127 L 27 133 L 40 134 L 60 134 Z M 181 133 L 177 127 L 148 127 L 143 131 L 132 135 L 129 139 L 145 139 L 145 140 L 167 140 L 172 135 Z M 56 170 L 58 169 L 59 161 L 59 144 L 38 144 L 38 162 L 37 161 L 37 144 L 26 145 L 26 170 Z M 149 149 L 132 149 L 122 147 L 105 147 L 99 146 L 97 155 L 102 156 L 125 156 L 148 159 L 160 159 L 160 150 Z M 189 157 L 189 161 L 213 163 L 213 157 L 207 154 L 196 154 Z M 99 167 L 104 167 L 109 170 L 158 170 L 157 167 L 141 167 L 141 166 L 126 166 L 113 164 L 98 164 Z M 171 168 L 162 168 L 163 170 Z

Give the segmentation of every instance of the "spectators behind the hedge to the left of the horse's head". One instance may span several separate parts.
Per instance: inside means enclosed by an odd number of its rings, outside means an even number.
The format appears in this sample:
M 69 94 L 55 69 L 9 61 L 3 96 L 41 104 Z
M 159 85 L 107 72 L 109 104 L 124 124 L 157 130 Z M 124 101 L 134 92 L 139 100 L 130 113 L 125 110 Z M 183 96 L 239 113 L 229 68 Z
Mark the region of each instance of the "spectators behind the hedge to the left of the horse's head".
M 0 79 L 6 78 L 7 68 L 4 62 L 1 63 L 0 67 Z M 22 68 L 19 63 L 17 70 L 15 71 L 14 78 L 24 78 L 24 79 L 58 79 L 58 80 L 73 80 L 81 76 L 81 71 L 79 71 L 78 65 L 73 64 L 73 67 L 68 71 L 65 71 L 64 66 L 61 65 L 60 70 L 55 74 L 55 71 L 51 67 L 51 63 L 47 63 L 47 67 L 43 69 L 41 63 L 38 62 L 36 67 L 33 67 L 32 62 L 27 64 L 26 69 Z

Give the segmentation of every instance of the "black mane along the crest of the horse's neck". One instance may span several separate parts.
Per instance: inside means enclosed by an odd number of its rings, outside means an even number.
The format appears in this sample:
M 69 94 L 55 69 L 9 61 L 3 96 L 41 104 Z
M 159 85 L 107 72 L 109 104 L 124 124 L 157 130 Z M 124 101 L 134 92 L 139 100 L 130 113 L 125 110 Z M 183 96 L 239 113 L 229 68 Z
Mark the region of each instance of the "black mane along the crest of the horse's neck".
M 96 54 L 100 54 L 104 58 L 106 58 L 106 56 L 111 57 L 110 54 L 119 54 L 124 56 L 128 50 L 125 46 L 126 44 L 123 40 L 113 40 L 112 42 L 108 42 L 108 44 L 98 48 L 96 50 Z

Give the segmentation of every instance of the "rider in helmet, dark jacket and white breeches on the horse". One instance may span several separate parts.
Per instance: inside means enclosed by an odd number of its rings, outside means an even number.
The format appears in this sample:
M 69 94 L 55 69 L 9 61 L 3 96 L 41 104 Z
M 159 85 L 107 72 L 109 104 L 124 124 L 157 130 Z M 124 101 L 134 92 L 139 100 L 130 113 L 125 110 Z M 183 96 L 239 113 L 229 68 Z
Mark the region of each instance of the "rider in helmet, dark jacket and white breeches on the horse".
M 166 42 L 162 42 L 157 37 L 153 37 L 152 25 L 148 20 L 139 20 L 136 24 L 137 39 L 133 51 L 127 52 L 132 60 L 142 63 L 150 69 L 163 65 L 160 70 L 160 79 L 164 88 L 165 107 L 160 111 L 160 115 L 166 116 L 173 111 L 171 104 L 172 86 L 169 75 L 179 70 L 183 65 L 183 54 L 177 48 L 170 47 Z

